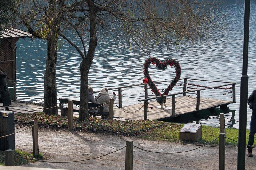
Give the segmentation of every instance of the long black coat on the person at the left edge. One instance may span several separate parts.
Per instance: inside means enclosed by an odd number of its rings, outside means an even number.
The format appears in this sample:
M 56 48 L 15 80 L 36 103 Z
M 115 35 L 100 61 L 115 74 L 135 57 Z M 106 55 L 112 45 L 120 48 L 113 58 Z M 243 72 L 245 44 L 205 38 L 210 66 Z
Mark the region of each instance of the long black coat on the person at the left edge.
M 2 76 L 0 76 L 0 99 L 3 103 L 3 106 L 10 106 L 12 102 L 10 92 L 6 83 L 6 77 L 6 74 L 2 74 Z

